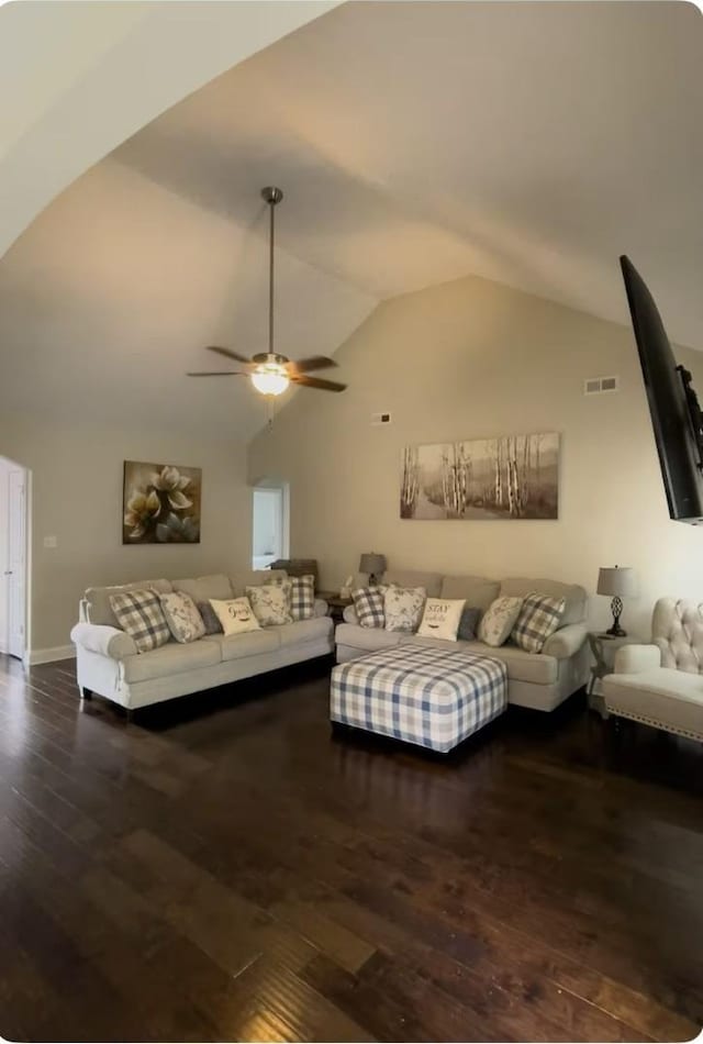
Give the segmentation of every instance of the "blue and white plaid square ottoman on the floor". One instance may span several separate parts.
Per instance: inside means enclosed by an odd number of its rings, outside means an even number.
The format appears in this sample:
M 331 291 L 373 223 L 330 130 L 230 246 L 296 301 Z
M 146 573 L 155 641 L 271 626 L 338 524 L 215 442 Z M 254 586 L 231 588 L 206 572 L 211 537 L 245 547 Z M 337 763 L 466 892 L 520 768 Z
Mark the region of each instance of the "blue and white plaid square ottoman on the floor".
M 461 649 L 397 645 L 332 671 L 333 722 L 446 754 L 507 706 L 507 669 Z

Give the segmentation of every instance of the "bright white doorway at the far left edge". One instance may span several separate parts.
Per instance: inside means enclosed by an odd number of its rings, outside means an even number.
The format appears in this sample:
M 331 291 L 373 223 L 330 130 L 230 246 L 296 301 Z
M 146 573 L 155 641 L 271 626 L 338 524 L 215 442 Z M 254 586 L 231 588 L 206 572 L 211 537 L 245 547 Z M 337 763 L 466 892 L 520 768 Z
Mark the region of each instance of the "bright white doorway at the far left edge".
M 26 651 L 27 473 L 0 457 L 0 653 Z

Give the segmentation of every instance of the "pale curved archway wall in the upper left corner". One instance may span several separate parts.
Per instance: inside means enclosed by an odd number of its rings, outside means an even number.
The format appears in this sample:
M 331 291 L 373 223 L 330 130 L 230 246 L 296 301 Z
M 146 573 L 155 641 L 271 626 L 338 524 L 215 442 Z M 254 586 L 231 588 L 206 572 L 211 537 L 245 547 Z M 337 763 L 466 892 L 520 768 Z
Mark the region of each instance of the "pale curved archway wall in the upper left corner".
M 154 116 L 333 7 L 4 3 L 0 90 L 12 105 L 0 123 L 0 196 L 12 206 L 0 209 L 0 255 L 74 178 Z

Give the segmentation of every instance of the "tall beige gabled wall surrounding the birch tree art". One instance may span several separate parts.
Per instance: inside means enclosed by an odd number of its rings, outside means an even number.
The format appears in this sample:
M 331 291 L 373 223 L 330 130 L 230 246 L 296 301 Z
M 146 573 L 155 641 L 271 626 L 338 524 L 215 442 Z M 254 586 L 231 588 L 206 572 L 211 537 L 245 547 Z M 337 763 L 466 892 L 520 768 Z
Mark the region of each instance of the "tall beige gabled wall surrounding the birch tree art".
M 613 266 L 613 279 L 618 279 Z M 703 392 L 703 354 L 678 352 Z M 336 353 L 341 396 L 301 390 L 249 447 L 249 477 L 291 484 L 291 554 L 336 587 L 359 553 L 397 566 L 547 576 L 593 592 L 601 565 L 634 566 L 625 607 L 648 632 L 660 595 L 703 597 L 703 531 L 671 522 L 632 332 L 479 278 L 387 301 Z M 621 391 L 584 398 L 583 379 Z M 392 412 L 392 425 L 370 415 Z M 559 520 L 420 522 L 399 517 L 405 444 L 561 433 Z M 609 619 L 593 598 L 592 622 Z

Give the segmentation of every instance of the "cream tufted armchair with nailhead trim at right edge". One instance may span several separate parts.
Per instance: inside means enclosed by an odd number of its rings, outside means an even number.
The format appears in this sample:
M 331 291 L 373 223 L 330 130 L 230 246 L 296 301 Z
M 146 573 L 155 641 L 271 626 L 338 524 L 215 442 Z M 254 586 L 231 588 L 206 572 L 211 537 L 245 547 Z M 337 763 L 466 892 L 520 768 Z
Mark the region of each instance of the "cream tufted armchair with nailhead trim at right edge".
M 620 648 L 603 693 L 611 714 L 703 741 L 703 603 L 660 598 L 651 645 Z

